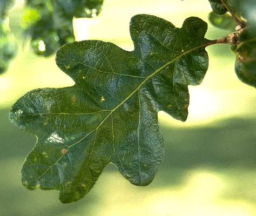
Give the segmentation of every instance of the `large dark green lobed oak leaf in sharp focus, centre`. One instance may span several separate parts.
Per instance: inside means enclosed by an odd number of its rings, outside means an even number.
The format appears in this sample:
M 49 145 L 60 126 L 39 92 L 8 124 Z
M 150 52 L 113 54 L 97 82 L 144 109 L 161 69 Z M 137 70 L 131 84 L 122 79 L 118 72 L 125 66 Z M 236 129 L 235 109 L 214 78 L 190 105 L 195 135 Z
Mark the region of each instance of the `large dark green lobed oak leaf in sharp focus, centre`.
M 56 63 L 75 85 L 36 89 L 10 111 L 19 129 L 38 138 L 22 168 L 26 188 L 60 191 L 62 203 L 81 199 L 113 163 L 134 185 L 153 180 L 164 155 L 157 112 L 185 121 L 188 85 L 208 67 L 207 24 L 182 28 L 151 15 L 131 19 L 134 51 L 85 40 L 59 49 Z

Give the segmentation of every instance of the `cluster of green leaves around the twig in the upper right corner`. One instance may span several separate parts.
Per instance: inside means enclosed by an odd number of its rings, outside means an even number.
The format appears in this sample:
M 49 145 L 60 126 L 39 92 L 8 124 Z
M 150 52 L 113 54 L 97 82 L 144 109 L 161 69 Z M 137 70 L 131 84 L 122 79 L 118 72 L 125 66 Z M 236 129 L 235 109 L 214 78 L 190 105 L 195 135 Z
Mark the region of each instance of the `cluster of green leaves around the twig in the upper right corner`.
M 232 30 L 235 26 L 234 19 L 232 20 L 229 14 L 225 14 L 224 10 L 221 10 L 221 5 L 223 5 L 221 2 L 223 1 L 210 1 L 216 14 L 211 12 L 208 18 L 214 26 Z M 240 21 L 236 24 L 240 25 L 236 29 L 238 33 L 237 43 L 231 47 L 237 56 L 235 73 L 241 82 L 256 87 L 256 4 L 253 0 L 227 0 L 225 6 L 232 16 L 235 16 L 238 22 Z

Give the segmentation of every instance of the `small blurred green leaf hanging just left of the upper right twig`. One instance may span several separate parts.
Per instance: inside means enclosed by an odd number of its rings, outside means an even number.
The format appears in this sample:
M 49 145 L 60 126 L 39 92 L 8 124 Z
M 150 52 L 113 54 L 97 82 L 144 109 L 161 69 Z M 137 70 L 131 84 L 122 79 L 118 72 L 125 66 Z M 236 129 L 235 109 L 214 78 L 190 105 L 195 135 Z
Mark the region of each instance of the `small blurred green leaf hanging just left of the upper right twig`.
M 208 15 L 208 19 L 213 26 L 219 29 L 234 31 L 235 26 L 238 25 L 230 14 L 218 15 L 212 11 Z

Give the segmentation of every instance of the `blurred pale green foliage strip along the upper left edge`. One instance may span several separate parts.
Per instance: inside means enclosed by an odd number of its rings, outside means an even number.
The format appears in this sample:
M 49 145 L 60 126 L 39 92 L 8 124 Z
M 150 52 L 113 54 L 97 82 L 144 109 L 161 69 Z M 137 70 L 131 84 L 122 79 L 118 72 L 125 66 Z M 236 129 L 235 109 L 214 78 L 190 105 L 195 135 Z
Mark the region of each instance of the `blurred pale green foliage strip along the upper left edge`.
M 6 18 L 13 3 L 14 1 L 0 0 L 0 74 L 8 68 L 10 60 L 17 51 L 17 45 Z

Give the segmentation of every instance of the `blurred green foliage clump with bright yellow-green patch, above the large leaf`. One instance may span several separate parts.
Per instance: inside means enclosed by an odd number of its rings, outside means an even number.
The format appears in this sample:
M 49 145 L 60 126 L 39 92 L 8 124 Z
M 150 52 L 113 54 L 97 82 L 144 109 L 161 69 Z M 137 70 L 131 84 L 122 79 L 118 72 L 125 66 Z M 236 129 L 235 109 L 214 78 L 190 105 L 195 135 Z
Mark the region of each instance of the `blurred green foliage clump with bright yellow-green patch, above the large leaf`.
M 23 12 L 24 37 L 31 39 L 37 55 L 50 56 L 73 42 L 73 17 L 96 17 L 103 0 L 27 0 Z

